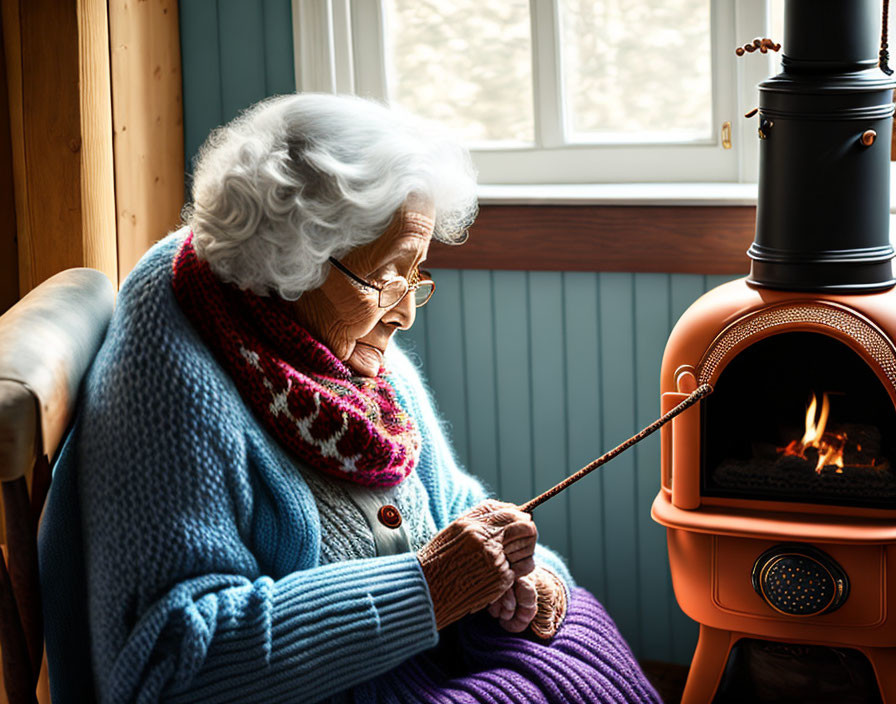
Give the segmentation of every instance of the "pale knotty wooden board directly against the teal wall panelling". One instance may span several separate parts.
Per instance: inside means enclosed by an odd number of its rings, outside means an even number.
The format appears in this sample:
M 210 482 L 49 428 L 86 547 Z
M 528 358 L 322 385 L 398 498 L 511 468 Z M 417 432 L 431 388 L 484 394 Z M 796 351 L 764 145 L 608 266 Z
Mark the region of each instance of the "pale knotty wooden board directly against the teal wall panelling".
M 177 227 L 184 135 L 176 0 L 109 4 L 119 277 Z

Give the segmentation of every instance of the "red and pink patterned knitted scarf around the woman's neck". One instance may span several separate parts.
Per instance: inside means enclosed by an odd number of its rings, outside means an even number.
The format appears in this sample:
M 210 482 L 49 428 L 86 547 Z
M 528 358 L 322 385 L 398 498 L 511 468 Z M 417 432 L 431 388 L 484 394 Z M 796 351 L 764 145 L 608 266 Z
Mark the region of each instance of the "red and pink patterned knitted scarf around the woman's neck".
M 181 309 L 277 440 L 311 467 L 364 486 L 394 486 L 420 455 L 420 433 L 381 369 L 353 376 L 294 319 L 289 302 L 222 283 L 193 248 L 174 258 Z

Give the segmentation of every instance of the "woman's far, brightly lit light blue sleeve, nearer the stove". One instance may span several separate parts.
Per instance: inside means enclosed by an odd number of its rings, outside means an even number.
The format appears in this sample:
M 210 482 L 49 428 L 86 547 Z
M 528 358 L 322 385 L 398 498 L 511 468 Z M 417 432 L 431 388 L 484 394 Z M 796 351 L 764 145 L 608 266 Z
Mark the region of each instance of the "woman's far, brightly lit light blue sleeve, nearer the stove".
M 485 499 L 501 497 L 491 497 L 477 479 L 461 469 L 448 441 L 444 423 L 419 370 L 407 354 L 397 346 L 393 347 L 389 363 L 396 377 L 395 386 L 402 400 L 412 409 L 420 426 L 423 452 L 418 472 L 430 492 L 436 527 L 441 530 L 457 516 Z M 535 559 L 566 582 L 568 589 L 574 586 L 563 558 L 553 550 L 539 544 L 535 548 Z

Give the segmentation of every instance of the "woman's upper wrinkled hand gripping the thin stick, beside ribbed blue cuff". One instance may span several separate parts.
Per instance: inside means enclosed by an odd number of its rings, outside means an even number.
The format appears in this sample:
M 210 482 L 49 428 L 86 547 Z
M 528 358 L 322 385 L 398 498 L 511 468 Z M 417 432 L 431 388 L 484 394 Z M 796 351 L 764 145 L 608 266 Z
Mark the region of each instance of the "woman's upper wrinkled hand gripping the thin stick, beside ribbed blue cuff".
M 417 553 L 441 630 L 479 611 L 535 566 L 538 529 L 513 504 L 485 501 Z

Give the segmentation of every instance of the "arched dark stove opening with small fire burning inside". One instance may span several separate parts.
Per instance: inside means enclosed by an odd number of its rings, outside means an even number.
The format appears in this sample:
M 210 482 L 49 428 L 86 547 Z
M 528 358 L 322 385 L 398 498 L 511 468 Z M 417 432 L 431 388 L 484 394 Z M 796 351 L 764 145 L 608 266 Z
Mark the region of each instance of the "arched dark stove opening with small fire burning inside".
M 706 496 L 896 508 L 896 411 L 871 367 L 818 333 L 775 335 L 703 404 Z

